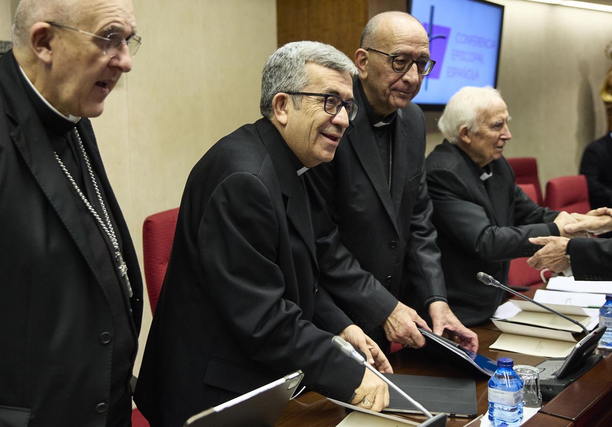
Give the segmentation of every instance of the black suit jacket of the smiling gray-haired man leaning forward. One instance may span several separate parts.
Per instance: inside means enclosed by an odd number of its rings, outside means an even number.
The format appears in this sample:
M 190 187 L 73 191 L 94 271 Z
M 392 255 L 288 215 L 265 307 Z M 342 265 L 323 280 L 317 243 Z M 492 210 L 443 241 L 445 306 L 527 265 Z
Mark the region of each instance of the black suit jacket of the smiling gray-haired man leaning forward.
M 260 119 L 218 141 L 193 168 L 135 393 L 152 426 L 180 426 L 296 369 L 312 390 L 343 401 L 360 384 L 364 368 L 331 343 L 350 321 L 318 280 L 354 279 L 331 283 L 337 293 L 376 293 L 380 285 L 333 238 L 315 244 L 314 206 L 296 161 Z M 375 297 L 366 304 L 379 309 Z M 334 310 L 345 319 L 340 329 L 316 327 Z

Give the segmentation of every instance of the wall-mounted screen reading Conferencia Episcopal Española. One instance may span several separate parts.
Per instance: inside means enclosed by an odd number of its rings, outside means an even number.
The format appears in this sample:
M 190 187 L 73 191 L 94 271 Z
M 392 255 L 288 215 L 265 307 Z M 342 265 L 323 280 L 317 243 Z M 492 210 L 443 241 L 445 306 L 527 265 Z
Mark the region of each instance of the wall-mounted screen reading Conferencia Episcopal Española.
M 496 86 L 504 6 L 484 0 L 411 0 L 408 10 L 427 30 L 436 61 L 415 103 L 442 110 L 463 86 Z

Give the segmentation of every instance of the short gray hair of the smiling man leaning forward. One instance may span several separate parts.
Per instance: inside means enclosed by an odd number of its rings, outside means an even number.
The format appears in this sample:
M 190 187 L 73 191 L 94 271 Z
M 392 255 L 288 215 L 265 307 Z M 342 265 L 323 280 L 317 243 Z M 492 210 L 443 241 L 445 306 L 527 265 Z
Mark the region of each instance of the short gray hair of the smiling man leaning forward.
M 330 70 L 348 72 L 352 78 L 357 76 L 353 61 L 334 46 L 308 41 L 287 43 L 271 54 L 261 72 L 259 111 L 264 117 L 272 117 L 272 98 L 278 92 L 299 92 L 307 86 L 308 62 Z M 294 98 L 294 104 L 299 108 L 297 98 Z

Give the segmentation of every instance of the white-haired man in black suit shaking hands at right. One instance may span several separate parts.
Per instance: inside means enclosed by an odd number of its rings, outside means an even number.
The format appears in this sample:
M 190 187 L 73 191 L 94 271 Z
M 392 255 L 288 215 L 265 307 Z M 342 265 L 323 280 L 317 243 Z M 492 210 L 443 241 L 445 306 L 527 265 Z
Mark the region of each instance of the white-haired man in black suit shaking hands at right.
M 450 308 L 466 325 L 487 321 L 505 296 L 476 280 L 507 283 L 510 260 L 531 256 L 529 237 L 562 236 L 575 220 L 533 202 L 503 157 L 512 138 L 506 103 L 492 87 L 466 86 L 438 121 L 444 142 L 428 155 L 427 184 Z

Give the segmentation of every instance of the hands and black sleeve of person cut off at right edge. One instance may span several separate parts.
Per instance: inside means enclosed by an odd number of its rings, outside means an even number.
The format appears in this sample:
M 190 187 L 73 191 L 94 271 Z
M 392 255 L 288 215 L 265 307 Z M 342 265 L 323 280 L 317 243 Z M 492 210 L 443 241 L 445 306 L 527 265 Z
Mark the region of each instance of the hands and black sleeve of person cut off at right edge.
M 600 207 L 586 215 L 572 213 L 577 223 L 565 225 L 571 233 L 604 234 L 612 232 L 612 209 Z M 572 273 L 577 280 L 612 280 L 612 239 L 587 237 L 532 237 L 535 245 L 543 245 L 528 264 L 536 269 Z

